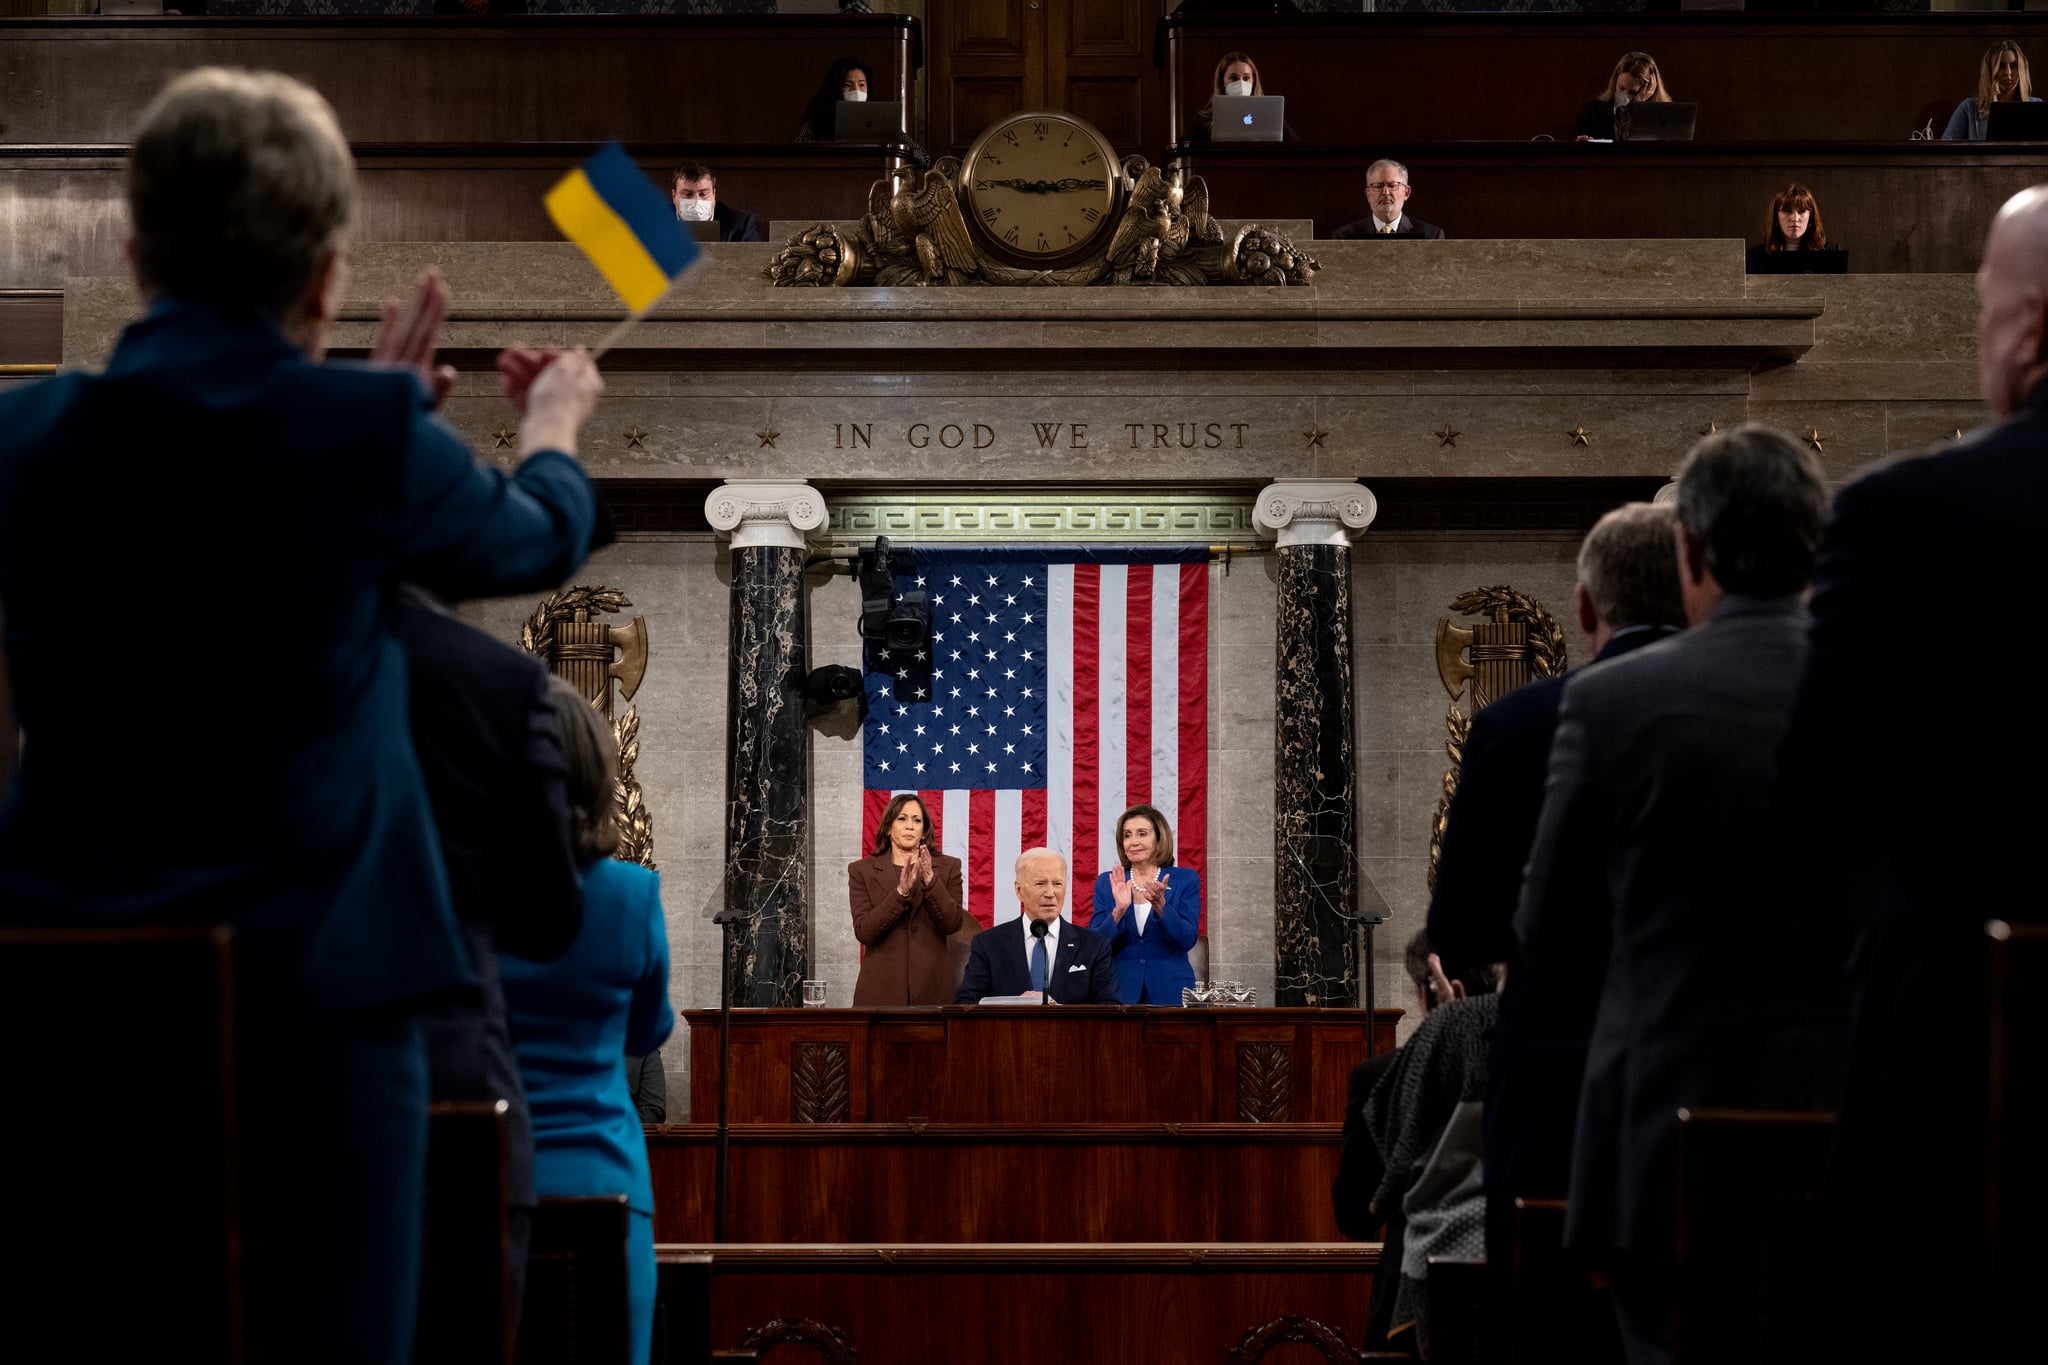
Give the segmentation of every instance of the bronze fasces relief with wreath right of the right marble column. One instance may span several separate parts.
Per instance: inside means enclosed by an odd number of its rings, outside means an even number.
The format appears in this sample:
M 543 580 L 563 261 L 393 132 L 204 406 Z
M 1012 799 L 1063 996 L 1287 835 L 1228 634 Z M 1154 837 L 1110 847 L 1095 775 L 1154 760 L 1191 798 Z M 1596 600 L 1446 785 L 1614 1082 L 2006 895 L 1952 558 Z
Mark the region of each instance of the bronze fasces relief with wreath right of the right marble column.
M 1473 716 L 1530 679 L 1565 671 L 1565 630 L 1536 598 L 1497 583 L 1458 593 L 1450 610 L 1487 620 L 1473 626 L 1454 626 L 1450 618 L 1436 622 L 1436 675 L 1450 694 L 1450 708 L 1444 712 L 1444 753 L 1450 755 L 1450 767 L 1444 772 L 1444 794 L 1430 821 L 1432 890 L 1436 862 L 1444 851 L 1444 819 L 1450 814 L 1450 798 L 1458 794 L 1458 772 L 1464 767 L 1464 741 Z

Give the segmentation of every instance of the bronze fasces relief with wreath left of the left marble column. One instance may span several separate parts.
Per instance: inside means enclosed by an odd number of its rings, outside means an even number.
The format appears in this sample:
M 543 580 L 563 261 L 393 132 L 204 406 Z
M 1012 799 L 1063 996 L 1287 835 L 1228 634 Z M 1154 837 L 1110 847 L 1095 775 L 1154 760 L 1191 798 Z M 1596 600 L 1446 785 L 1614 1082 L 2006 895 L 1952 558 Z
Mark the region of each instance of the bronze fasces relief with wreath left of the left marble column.
M 629 606 L 631 598 L 616 587 L 563 587 L 526 618 L 520 647 L 573 684 L 612 722 L 612 737 L 618 739 L 616 857 L 653 868 L 653 814 L 633 776 L 639 761 L 639 710 L 631 706 L 647 673 L 647 618 L 635 616 L 623 626 L 594 620 Z

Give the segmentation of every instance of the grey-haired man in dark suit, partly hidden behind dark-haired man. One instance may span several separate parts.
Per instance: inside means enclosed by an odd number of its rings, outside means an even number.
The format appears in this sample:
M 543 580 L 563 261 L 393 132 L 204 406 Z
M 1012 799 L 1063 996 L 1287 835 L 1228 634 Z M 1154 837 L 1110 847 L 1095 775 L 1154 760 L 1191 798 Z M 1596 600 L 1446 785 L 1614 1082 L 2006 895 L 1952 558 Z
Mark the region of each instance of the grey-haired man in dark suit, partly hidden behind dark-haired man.
M 1628 503 L 1599 518 L 1579 546 L 1573 602 L 1595 667 L 1686 624 L 1677 591 L 1671 505 Z M 1516 954 L 1522 866 L 1542 812 L 1542 784 L 1565 677 L 1516 688 L 1473 716 L 1458 794 L 1430 898 L 1430 941 L 1452 962 L 1505 962 L 1507 986 L 1493 1029 L 1485 1113 L 1487 1261 L 1507 1265 L 1516 1195 L 1561 1197 L 1571 1179 L 1585 1040 L 1608 962 L 1604 898 L 1587 896 L 1577 952 L 1556 954 L 1554 974 Z

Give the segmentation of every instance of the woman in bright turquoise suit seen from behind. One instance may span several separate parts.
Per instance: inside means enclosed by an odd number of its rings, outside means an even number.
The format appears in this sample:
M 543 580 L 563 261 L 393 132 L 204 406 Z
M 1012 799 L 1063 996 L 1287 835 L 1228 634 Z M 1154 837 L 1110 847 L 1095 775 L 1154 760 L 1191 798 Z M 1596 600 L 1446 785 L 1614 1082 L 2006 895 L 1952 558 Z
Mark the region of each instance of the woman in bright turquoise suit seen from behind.
M 504 958 L 506 1009 L 532 1109 L 532 1183 L 549 1195 L 627 1197 L 627 1293 L 635 1365 L 653 1338 L 653 1185 L 627 1054 L 659 1048 L 668 1007 L 668 927 L 655 874 L 618 849 L 612 784 L 618 745 L 598 708 L 549 684 L 569 767 L 569 837 L 584 866 L 584 927 L 553 962 Z

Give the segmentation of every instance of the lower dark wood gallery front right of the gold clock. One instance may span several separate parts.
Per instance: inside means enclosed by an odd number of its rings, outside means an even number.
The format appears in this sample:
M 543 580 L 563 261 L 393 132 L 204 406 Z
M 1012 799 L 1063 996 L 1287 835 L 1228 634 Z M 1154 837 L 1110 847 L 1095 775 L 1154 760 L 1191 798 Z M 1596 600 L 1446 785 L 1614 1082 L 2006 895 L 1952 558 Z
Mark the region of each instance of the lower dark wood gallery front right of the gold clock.
M 1409 211 L 1460 239 L 1759 241 L 1772 194 L 1800 180 L 1860 274 L 1972 272 L 1999 205 L 2048 180 L 2048 145 L 2032 143 L 1194 143 L 1176 156 L 1208 182 L 1219 217 L 1313 219 L 1317 237 L 1366 215 L 1376 156 L 1405 162 Z

